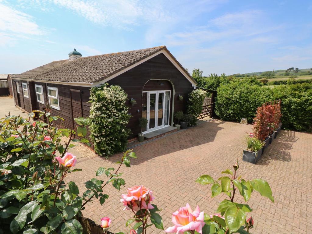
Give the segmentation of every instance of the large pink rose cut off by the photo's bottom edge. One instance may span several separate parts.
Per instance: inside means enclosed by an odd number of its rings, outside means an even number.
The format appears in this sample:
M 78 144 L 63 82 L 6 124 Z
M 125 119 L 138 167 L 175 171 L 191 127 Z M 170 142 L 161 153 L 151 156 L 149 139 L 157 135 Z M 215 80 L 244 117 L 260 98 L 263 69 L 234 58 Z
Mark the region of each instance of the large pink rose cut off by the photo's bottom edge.
M 204 227 L 204 212 L 199 211 L 199 206 L 192 211 L 189 204 L 185 207 L 180 207 L 172 214 L 173 227 L 168 227 L 165 232 L 182 234 L 186 231 L 194 231 L 202 234 L 202 227 Z

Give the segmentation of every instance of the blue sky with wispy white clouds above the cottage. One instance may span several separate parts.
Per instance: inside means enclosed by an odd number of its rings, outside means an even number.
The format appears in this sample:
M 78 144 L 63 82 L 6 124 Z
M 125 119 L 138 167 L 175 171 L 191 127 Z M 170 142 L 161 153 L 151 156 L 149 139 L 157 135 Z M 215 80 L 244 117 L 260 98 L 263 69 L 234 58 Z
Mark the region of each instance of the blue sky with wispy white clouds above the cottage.
M 0 0 L 0 73 L 160 45 L 204 75 L 310 68 L 312 2 Z

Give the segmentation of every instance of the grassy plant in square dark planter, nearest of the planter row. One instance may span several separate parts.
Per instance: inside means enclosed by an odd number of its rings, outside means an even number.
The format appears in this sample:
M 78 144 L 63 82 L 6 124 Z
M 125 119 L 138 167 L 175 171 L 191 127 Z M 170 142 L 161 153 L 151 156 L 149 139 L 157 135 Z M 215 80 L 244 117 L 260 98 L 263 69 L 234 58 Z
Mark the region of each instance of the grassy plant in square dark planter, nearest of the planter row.
M 255 137 L 246 137 L 247 147 L 243 151 L 243 161 L 254 163 L 261 158 L 264 142 Z

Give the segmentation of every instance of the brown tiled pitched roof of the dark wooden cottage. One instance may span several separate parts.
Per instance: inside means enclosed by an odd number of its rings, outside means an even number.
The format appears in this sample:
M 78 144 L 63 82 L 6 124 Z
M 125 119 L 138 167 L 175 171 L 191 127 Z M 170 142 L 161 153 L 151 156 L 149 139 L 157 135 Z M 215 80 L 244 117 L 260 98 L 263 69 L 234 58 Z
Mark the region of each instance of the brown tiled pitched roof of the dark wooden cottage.
M 138 64 L 140 61 L 154 54 L 158 54 L 160 51 L 169 55 L 170 59 L 178 66 L 178 69 L 183 72 L 184 76 L 186 76 L 191 83 L 196 85 L 196 81 L 193 80 L 192 76 L 190 76 L 173 57 L 166 46 L 81 57 L 74 61 L 69 61 L 67 59 L 53 61 L 35 69 L 14 75 L 12 78 L 66 83 L 95 83 L 105 80 L 130 66 L 135 66 L 135 64 Z

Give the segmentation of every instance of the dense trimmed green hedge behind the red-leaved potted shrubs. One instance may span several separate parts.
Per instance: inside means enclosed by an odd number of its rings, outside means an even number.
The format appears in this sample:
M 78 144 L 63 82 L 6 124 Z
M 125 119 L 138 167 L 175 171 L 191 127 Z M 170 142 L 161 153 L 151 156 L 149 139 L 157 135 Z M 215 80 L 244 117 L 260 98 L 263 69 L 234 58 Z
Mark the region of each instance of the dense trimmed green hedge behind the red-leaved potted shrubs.
M 280 85 L 274 88 L 252 85 L 244 81 L 232 81 L 217 89 L 216 114 L 224 120 L 249 122 L 256 115 L 256 109 L 262 103 L 282 100 L 282 118 L 284 129 L 312 131 L 312 84 Z

